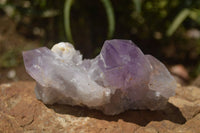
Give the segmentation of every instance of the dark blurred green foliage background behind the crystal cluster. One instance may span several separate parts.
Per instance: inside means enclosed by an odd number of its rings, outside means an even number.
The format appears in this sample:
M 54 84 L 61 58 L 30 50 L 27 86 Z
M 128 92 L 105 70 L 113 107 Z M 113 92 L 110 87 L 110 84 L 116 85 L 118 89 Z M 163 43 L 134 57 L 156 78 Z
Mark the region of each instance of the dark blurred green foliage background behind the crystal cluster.
M 200 68 L 199 0 L 0 0 L 0 7 L 19 33 L 48 46 L 70 41 L 92 57 L 108 38 L 131 39 L 169 64 Z

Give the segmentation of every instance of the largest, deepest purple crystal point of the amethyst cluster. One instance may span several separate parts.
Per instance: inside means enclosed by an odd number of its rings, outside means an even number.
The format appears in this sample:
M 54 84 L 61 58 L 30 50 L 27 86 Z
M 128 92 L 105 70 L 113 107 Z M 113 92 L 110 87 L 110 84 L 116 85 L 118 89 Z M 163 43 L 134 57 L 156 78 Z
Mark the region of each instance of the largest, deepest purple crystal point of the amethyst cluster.
M 122 91 L 129 89 L 129 95 L 134 100 L 145 95 L 151 68 L 142 51 L 132 41 L 105 41 L 100 57 L 99 66 L 104 73 L 105 86 Z

